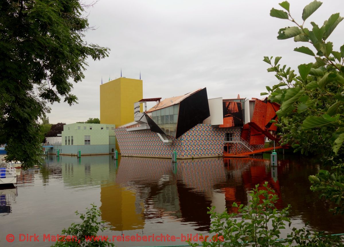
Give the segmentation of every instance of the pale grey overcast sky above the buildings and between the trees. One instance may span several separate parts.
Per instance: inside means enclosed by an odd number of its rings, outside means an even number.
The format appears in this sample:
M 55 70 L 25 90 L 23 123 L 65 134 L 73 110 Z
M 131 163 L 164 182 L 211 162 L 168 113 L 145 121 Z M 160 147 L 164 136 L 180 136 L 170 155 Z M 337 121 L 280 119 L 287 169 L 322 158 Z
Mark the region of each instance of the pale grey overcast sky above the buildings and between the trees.
M 206 87 L 208 98 L 258 97 L 265 86 L 277 84 L 268 73 L 264 56 L 281 56 L 281 64 L 297 71 L 311 56 L 293 51 L 306 43 L 277 40 L 280 28 L 294 26 L 273 18 L 274 0 L 186 1 L 100 0 L 88 9 L 86 40 L 111 49 L 109 57 L 88 60 L 85 79 L 74 84 L 79 104 L 51 106 L 50 123 L 72 124 L 99 118 L 99 85 L 122 76 L 143 80 L 143 97 L 172 97 Z M 290 0 L 291 15 L 302 23 L 302 10 L 310 0 Z M 307 19 L 322 25 L 331 14 L 344 16 L 343 0 L 326 0 Z M 334 50 L 344 44 L 344 21 L 328 41 Z

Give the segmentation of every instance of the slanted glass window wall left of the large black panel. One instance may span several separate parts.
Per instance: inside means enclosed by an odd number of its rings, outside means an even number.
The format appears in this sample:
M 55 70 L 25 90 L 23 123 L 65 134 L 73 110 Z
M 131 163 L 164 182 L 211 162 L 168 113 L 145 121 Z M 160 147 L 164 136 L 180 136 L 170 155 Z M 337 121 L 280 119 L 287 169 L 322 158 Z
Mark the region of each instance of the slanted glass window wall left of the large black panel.
M 152 120 L 169 136 L 175 137 L 179 104 L 152 111 Z

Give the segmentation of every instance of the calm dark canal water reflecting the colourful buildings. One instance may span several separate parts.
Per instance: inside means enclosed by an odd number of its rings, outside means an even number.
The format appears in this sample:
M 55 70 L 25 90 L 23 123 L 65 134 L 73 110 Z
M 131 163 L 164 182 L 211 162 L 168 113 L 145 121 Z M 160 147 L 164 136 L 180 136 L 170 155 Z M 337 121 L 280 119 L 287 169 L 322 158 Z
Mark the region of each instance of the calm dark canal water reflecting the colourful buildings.
M 111 155 L 47 156 L 40 169 L 18 171 L 16 188 L 0 190 L 0 246 L 51 246 L 45 236 L 81 220 L 91 203 L 112 236 L 175 236 L 175 242 L 118 242 L 116 246 L 179 245 L 181 236 L 206 233 L 208 207 L 217 211 L 233 202 L 246 204 L 248 191 L 265 181 L 279 196 L 278 208 L 291 204 L 293 225 L 329 233 L 343 233 L 343 216 L 334 216 L 329 203 L 310 191 L 308 176 L 318 162 L 296 156 L 279 157 L 277 169 L 269 156 L 178 160 Z M 288 227 L 287 227 L 288 228 Z M 13 243 L 6 240 L 12 234 Z M 23 234 L 23 235 L 20 235 Z M 183 234 L 183 235 L 182 235 Z M 28 236 L 36 236 L 28 239 Z M 24 237 L 25 236 L 25 237 Z M 38 241 L 39 242 L 38 242 Z M 49 240 L 49 239 L 45 239 Z

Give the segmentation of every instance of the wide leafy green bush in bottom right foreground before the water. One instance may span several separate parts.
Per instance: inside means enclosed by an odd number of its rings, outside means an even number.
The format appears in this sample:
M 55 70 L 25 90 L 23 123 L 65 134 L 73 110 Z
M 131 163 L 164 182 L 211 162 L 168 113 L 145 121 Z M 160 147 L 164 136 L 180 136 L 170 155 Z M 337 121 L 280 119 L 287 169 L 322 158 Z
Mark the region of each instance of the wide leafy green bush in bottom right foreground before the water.
M 342 239 L 338 236 L 328 236 L 324 232 L 312 232 L 306 228 L 297 229 L 293 227 L 286 239 L 280 238 L 281 230 L 289 227 L 291 221 L 289 205 L 278 211 L 275 207 L 277 195 L 268 187 L 268 182 L 259 190 L 259 185 L 250 191 L 250 200 L 247 205 L 234 202 L 239 214 L 227 211 L 217 213 L 215 207 L 208 208 L 211 214 L 211 226 L 209 233 L 216 233 L 209 240 L 204 240 L 202 246 L 343 246 Z M 215 241 L 214 241 L 215 240 Z M 196 247 L 198 243 L 189 245 Z

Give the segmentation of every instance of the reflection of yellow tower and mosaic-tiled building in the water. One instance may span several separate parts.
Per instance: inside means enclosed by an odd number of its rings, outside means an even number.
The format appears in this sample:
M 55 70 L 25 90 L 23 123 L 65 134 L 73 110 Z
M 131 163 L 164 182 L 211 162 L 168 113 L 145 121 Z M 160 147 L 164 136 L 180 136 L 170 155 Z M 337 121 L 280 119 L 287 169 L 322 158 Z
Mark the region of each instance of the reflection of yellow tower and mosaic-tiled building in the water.
M 101 185 L 102 219 L 117 231 L 143 228 L 145 220 L 162 216 L 206 230 L 207 207 L 221 201 L 212 188 L 225 180 L 222 159 L 179 161 L 175 170 L 171 160 L 121 157 L 114 180 Z

